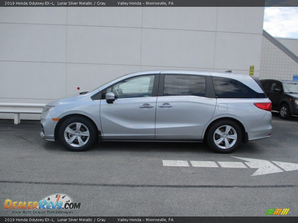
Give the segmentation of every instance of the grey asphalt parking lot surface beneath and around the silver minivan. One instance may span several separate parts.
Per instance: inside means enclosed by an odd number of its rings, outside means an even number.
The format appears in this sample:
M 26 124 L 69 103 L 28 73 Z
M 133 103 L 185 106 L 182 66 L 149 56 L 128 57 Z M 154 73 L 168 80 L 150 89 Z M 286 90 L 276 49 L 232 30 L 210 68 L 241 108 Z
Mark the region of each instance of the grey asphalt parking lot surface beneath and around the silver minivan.
M 252 176 L 258 168 L 235 158 L 298 164 L 298 117 L 282 120 L 273 113 L 272 125 L 271 138 L 243 143 L 232 154 L 177 142 L 104 142 L 70 152 L 43 140 L 39 121 L 0 120 L 0 216 L 44 216 L 13 214 L 4 200 L 38 201 L 58 193 L 81 207 L 47 216 L 265 216 L 268 208 L 290 208 L 287 216 L 298 216 L 298 170 Z M 164 166 L 163 160 L 189 166 Z

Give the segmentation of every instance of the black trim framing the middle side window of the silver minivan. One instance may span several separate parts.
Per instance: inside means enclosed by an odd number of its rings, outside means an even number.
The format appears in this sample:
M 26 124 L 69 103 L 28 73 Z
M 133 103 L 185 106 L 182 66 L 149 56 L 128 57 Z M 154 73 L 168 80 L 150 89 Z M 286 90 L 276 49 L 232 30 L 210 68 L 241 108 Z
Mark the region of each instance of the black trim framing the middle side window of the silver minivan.
M 198 96 L 193 96 L 193 95 L 164 96 L 165 75 L 178 75 L 178 76 L 185 75 L 185 76 L 205 77 L 206 78 L 206 81 L 205 81 L 205 97 L 198 97 Z M 179 74 L 179 73 L 160 74 L 157 97 L 185 97 L 185 96 L 198 97 L 198 98 L 215 98 L 215 91 L 214 91 L 214 86 L 213 86 L 213 83 L 212 83 L 211 76 L 197 75 L 197 74 Z

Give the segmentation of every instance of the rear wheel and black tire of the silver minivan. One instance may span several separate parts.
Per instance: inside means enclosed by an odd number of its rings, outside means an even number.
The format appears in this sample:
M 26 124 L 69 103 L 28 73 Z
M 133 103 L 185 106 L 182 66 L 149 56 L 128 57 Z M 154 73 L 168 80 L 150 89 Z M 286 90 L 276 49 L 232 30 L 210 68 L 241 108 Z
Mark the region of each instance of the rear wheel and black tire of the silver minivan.
M 231 127 L 230 130 L 228 129 L 229 127 Z M 217 130 L 221 132 L 221 135 Z M 227 130 L 229 130 L 228 136 L 226 136 L 226 133 L 225 133 Z M 239 125 L 232 120 L 222 119 L 211 124 L 207 132 L 206 142 L 208 146 L 215 152 L 230 153 L 237 148 L 241 140 L 242 140 L 242 131 Z M 215 141 L 220 143 L 216 145 Z

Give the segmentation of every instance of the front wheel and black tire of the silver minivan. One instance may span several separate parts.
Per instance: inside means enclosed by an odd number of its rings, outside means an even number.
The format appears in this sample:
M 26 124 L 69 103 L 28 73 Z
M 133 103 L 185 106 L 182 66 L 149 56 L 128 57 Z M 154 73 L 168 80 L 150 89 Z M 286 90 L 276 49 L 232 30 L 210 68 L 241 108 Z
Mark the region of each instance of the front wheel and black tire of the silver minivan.
M 77 125 L 77 123 L 81 125 Z M 73 130 L 73 133 L 70 133 L 70 130 L 67 132 L 67 127 Z M 77 127 L 79 127 L 79 131 L 76 131 Z M 82 133 L 82 135 L 79 133 Z M 86 151 L 93 146 L 97 138 L 97 129 L 89 119 L 73 116 L 63 121 L 58 134 L 59 140 L 66 149 L 70 151 Z M 66 140 L 69 140 L 71 144 L 66 142 Z

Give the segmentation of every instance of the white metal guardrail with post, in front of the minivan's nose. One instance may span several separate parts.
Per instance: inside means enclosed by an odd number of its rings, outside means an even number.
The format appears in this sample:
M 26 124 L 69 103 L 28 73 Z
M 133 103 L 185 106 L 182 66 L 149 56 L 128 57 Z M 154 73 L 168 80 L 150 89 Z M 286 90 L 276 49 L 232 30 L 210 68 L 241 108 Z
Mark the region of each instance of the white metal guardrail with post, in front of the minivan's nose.
M 46 104 L 0 103 L 0 113 L 14 113 L 15 124 L 20 124 L 20 114 L 41 114 Z

